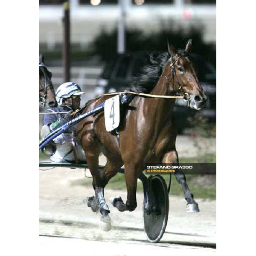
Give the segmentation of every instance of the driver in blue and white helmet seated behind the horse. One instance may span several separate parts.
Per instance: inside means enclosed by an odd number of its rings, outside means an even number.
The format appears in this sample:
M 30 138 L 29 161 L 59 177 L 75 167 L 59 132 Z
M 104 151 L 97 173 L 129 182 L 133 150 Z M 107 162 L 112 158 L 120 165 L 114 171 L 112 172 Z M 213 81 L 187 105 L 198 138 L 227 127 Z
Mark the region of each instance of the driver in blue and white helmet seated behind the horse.
M 48 108 L 46 112 L 50 114 L 44 114 L 41 129 L 42 139 L 51 131 L 73 119 L 73 112 L 80 108 L 82 94 L 84 92 L 81 91 L 79 85 L 73 82 L 61 84 L 58 87 L 56 91 L 58 107 Z M 76 138 L 76 125 L 53 139 L 53 142 L 56 146 L 56 152 L 50 157 L 52 162 L 75 161 L 78 163 L 81 160 L 85 161 L 84 150 Z

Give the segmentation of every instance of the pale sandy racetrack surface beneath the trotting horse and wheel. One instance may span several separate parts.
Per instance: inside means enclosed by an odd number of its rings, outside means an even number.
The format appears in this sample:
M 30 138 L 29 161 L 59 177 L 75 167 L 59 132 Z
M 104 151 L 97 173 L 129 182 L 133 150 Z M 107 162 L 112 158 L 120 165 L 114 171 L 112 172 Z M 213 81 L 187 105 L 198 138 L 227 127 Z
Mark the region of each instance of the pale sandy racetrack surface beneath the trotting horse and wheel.
M 104 160 L 100 161 L 101 164 Z M 47 252 L 47 244 L 57 246 L 58 243 L 75 243 L 77 246 L 109 246 L 129 248 L 114 250 L 105 255 L 134 255 L 133 250 L 177 250 L 211 255 L 216 247 L 216 201 L 195 198 L 201 212 L 186 213 L 184 198 L 169 195 L 169 219 L 166 232 L 160 243 L 149 244 L 143 230 L 142 202 L 143 194 L 137 193 L 137 209 L 134 212 L 119 212 L 109 199 L 121 196 L 126 201 L 126 191 L 105 189 L 105 199 L 111 210 L 112 230 L 102 231 L 99 227 L 99 213 L 93 213 L 85 206 L 83 200 L 93 195 L 90 186 L 72 185 L 74 181 L 84 177 L 83 169 L 55 168 L 47 171 L 40 170 L 40 225 L 41 235 L 66 236 L 78 239 L 49 238 L 40 236 L 42 250 Z M 87 179 L 87 178 L 85 178 Z M 111 181 L 110 181 L 111 182 Z M 76 240 L 76 241 L 74 241 Z M 53 242 L 54 241 L 54 242 Z M 84 244 L 84 245 L 82 245 Z M 72 246 L 71 246 L 72 247 Z M 149 249 L 150 248 L 150 249 Z M 68 250 L 68 248 L 67 248 Z M 159 251 L 160 252 L 160 251 Z M 156 254 L 154 253 L 154 255 Z M 202 253 L 202 254 L 200 254 Z M 57 253 L 59 254 L 59 253 Z M 48 254 L 49 255 L 49 254 Z M 53 254 L 54 255 L 54 254 Z M 95 254 L 94 254 L 95 255 Z

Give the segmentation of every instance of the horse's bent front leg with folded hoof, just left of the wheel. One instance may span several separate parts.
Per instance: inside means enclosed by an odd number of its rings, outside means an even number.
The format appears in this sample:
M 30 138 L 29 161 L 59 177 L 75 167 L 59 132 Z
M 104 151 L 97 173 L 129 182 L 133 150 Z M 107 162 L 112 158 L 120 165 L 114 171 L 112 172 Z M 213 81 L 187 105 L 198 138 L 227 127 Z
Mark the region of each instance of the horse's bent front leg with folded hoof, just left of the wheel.
M 126 204 L 122 201 L 121 197 L 111 198 L 111 204 L 116 207 L 120 212 L 134 211 L 137 207 L 136 191 L 137 191 L 137 178 L 138 170 L 134 164 L 125 165 L 125 183 L 127 188 Z

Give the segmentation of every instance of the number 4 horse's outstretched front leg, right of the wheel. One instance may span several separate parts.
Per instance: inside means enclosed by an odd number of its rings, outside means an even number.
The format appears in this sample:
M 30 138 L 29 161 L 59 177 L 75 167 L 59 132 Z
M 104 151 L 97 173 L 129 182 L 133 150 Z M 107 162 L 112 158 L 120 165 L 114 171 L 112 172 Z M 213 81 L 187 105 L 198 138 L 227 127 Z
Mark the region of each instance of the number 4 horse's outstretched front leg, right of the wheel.
M 178 158 L 177 151 L 174 150 L 174 151 L 170 151 L 170 152 L 166 153 L 163 156 L 162 162 L 163 163 L 172 163 L 172 164 L 175 164 L 178 166 L 179 158 Z M 194 195 L 191 193 L 189 186 L 186 183 L 186 177 L 180 169 L 175 171 L 175 178 L 178 181 L 178 183 L 180 183 L 180 186 L 183 190 L 185 199 L 187 201 L 186 212 L 199 212 L 198 204 L 195 202 Z

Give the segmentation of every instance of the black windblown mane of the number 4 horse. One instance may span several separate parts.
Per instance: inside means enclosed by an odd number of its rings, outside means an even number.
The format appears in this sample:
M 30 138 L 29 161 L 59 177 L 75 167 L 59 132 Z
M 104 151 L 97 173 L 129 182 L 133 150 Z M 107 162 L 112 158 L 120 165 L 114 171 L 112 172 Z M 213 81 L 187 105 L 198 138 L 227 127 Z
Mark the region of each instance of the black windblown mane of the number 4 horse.
M 166 62 L 170 58 L 168 52 L 151 53 L 149 56 L 148 65 L 144 66 L 131 84 L 131 90 L 137 93 L 149 93 L 159 77 L 163 73 Z

